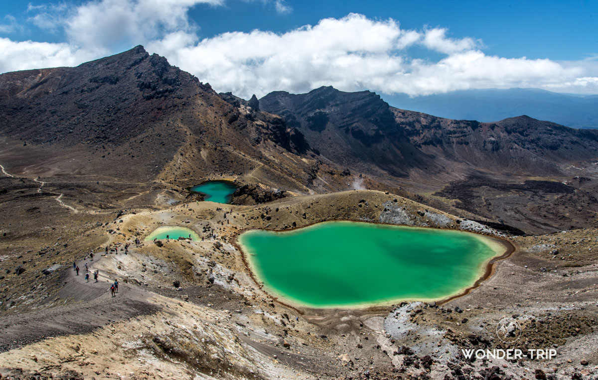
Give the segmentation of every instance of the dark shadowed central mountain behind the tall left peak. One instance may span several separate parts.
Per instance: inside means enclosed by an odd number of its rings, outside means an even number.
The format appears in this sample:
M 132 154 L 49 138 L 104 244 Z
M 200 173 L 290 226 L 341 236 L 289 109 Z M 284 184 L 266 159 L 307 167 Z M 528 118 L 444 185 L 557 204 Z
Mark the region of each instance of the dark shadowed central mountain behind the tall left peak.
M 388 103 L 370 91 L 345 93 L 321 87 L 307 94 L 275 91 L 260 108 L 300 130 L 323 157 L 356 171 L 407 176 L 414 167 L 437 167 L 395 122 Z

